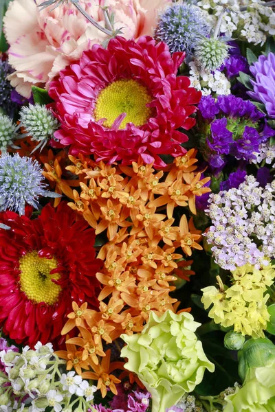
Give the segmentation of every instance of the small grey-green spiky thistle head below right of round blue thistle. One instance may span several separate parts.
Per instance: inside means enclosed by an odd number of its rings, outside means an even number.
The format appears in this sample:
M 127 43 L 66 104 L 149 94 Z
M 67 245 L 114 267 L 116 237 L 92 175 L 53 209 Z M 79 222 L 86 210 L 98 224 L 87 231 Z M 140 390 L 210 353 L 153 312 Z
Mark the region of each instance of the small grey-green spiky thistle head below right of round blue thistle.
M 230 45 L 221 37 L 201 37 L 195 47 L 195 58 L 201 69 L 214 71 L 219 69 L 228 57 L 229 49 Z

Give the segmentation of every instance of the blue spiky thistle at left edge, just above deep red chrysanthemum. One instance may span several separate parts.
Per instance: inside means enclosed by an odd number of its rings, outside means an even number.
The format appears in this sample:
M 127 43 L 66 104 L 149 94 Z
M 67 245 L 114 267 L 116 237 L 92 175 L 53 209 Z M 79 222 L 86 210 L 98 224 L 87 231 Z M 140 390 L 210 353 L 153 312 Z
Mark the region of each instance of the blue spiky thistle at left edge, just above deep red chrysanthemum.
M 0 211 L 25 214 L 25 205 L 38 208 L 39 196 L 56 197 L 45 190 L 39 163 L 30 157 L 2 155 L 0 157 Z

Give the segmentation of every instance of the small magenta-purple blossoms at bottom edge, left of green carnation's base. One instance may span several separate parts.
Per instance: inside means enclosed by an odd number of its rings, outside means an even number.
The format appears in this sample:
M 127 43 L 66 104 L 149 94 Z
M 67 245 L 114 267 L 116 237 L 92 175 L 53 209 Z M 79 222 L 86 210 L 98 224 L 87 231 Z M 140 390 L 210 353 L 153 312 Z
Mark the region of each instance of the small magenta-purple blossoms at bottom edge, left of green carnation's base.
M 98 412 L 146 412 L 150 403 L 151 393 L 142 391 L 133 391 L 128 395 L 125 393 L 122 385 L 118 385 L 118 395 L 115 395 L 109 406 L 111 408 L 94 405 Z

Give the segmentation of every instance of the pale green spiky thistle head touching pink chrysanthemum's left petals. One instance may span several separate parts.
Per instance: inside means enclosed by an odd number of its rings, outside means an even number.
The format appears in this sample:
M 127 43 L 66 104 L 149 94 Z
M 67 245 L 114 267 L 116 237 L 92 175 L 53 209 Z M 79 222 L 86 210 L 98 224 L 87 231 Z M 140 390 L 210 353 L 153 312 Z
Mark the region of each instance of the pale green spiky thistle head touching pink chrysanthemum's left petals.
M 39 143 L 36 149 L 42 150 L 58 128 L 58 121 L 52 112 L 40 104 L 24 106 L 20 112 L 20 120 L 28 135 L 32 136 L 32 140 Z

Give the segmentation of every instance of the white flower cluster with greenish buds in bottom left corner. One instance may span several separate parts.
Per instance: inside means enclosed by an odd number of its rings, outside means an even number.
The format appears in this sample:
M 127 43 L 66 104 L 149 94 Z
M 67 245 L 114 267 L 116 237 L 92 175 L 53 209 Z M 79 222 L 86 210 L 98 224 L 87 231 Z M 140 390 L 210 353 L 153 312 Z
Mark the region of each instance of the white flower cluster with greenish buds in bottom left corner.
M 25 346 L 21 353 L 2 350 L 0 360 L 4 365 L 0 371 L 0 412 L 45 412 L 49 407 L 52 412 L 61 412 L 69 410 L 71 402 L 78 402 L 78 411 L 91 407 L 96 387 L 75 371 L 59 379 L 58 369 L 66 361 L 54 354 L 51 343 L 39 342 L 34 350 Z

